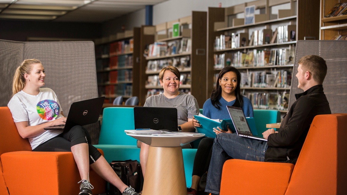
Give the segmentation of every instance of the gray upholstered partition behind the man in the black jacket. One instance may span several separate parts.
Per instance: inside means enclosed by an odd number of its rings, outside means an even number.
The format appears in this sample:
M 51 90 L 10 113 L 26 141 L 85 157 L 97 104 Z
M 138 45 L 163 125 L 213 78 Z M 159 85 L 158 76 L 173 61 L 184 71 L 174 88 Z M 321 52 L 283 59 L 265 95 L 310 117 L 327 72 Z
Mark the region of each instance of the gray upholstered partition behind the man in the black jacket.
M 298 89 L 298 61 L 307 55 L 322 57 L 328 66 L 323 82 L 324 93 L 330 104 L 331 113 L 347 113 L 347 41 L 301 40 L 296 44 L 293 75 L 290 87 L 289 107 L 294 103 Z

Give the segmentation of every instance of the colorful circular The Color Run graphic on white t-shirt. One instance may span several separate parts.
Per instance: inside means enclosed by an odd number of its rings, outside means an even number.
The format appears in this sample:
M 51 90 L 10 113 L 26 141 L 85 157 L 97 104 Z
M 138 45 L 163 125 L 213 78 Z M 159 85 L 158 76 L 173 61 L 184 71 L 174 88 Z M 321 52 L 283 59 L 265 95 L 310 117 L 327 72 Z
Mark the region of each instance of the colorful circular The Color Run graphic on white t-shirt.
M 60 106 L 53 100 L 43 100 L 36 105 L 37 113 L 43 120 L 52 120 L 59 115 Z

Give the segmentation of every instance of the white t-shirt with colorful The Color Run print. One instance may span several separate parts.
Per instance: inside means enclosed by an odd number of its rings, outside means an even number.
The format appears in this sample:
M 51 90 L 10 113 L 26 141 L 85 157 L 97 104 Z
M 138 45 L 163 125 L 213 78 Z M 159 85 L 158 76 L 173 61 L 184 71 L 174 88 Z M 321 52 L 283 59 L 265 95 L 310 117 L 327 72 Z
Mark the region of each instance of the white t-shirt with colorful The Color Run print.
M 7 106 L 15 122 L 28 121 L 29 126 L 41 125 L 63 117 L 57 95 L 50 88 L 40 88 L 38 95 L 30 95 L 20 91 L 11 98 Z M 46 130 L 40 135 L 29 137 L 32 150 L 63 131 Z

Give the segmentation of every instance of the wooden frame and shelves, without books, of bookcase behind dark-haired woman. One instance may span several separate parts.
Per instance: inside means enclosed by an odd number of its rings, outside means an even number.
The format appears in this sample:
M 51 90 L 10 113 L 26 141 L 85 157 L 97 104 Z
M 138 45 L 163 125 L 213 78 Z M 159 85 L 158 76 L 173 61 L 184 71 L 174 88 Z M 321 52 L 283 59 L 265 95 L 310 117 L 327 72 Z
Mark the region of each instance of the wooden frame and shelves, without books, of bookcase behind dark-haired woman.
M 283 47 L 287 47 L 288 45 L 295 45 L 298 40 L 304 40 L 305 37 L 315 37 L 315 39 L 319 38 L 319 20 L 317 19 L 319 16 L 319 1 L 320 0 L 258 0 L 243 3 L 240 5 L 235 5 L 227 8 L 208 8 L 208 43 L 207 43 L 207 79 L 206 79 L 206 99 L 208 99 L 211 95 L 214 84 L 214 74 L 218 73 L 221 69 L 214 68 L 214 54 L 222 54 L 227 52 L 235 53 L 240 50 L 244 50 L 246 52 L 247 49 L 256 49 L 256 48 L 270 48 L 283 45 Z M 288 13 L 290 15 L 270 20 L 270 8 L 272 6 L 281 5 L 284 3 L 289 3 L 290 8 L 288 8 Z M 245 7 L 255 5 L 255 9 L 265 9 L 265 21 L 256 22 L 254 24 L 247 25 L 237 25 L 232 26 L 232 21 L 228 21 L 229 18 L 232 18 L 232 15 L 236 15 L 239 13 L 244 13 Z M 335 4 L 334 4 L 335 5 Z M 296 12 L 296 13 L 295 13 Z M 231 16 L 231 17 L 230 17 Z M 236 20 L 235 20 L 236 21 Z M 286 23 L 283 25 L 295 24 L 296 25 L 296 40 L 284 43 L 271 43 L 265 45 L 257 45 L 257 46 L 245 46 L 241 48 L 228 48 L 225 50 L 214 50 L 214 42 L 215 37 L 220 35 L 230 35 L 230 33 L 240 33 L 240 29 L 243 29 L 243 32 L 252 34 L 249 31 L 250 28 L 252 30 L 254 28 L 259 28 L 260 26 L 264 26 L 263 29 L 271 28 L 271 25 L 279 25 L 281 23 Z M 231 24 L 231 26 L 228 26 Z M 224 26 L 224 27 L 220 27 Z M 281 25 L 280 25 L 281 26 Z M 273 31 L 274 32 L 274 31 Z M 272 33 L 273 33 L 272 32 Z M 283 66 L 263 66 L 263 67 L 237 67 L 240 71 L 245 70 L 256 70 L 256 69 L 271 69 L 271 68 L 292 68 L 293 65 L 283 65 Z M 243 87 L 242 90 L 290 90 L 290 88 L 255 88 L 255 87 Z

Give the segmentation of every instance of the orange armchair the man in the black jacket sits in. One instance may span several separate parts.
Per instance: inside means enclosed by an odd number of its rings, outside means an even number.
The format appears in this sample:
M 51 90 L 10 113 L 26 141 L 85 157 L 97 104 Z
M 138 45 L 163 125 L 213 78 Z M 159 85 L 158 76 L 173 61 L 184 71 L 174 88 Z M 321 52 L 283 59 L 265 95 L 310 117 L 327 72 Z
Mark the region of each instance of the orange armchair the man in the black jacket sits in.
M 220 195 L 346 194 L 347 114 L 318 115 L 290 163 L 227 160 Z

